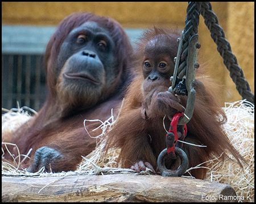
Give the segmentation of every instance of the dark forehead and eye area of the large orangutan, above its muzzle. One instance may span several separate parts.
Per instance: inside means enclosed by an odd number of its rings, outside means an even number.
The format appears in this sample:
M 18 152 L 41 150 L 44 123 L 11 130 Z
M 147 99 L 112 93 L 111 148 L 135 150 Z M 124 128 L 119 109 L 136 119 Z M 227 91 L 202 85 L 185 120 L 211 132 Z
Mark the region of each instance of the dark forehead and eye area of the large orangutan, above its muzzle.
M 57 58 L 57 72 L 60 73 L 65 62 L 74 54 L 80 57 L 87 56 L 100 60 L 104 66 L 110 65 L 113 60 L 114 42 L 109 32 L 95 22 L 86 22 L 80 27 L 73 29 L 61 45 Z M 83 53 L 84 52 L 84 53 Z M 89 55 L 86 55 L 86 54 Z M 56 73 L 59 75 L 59 73 Z

